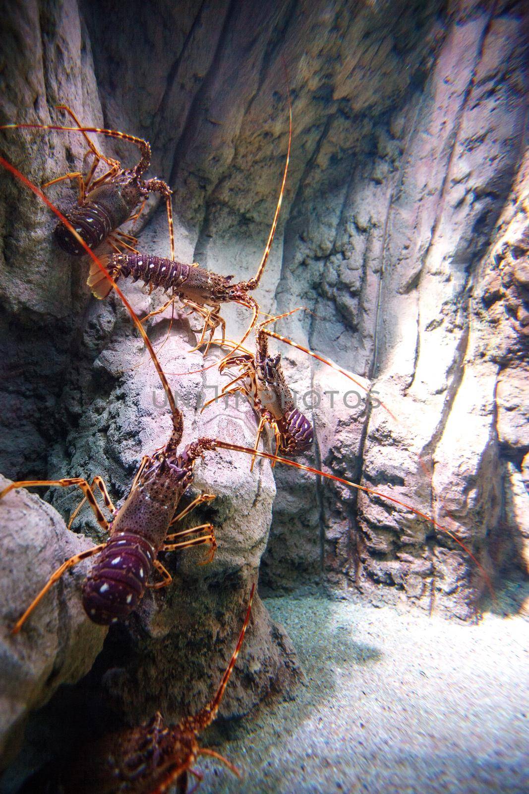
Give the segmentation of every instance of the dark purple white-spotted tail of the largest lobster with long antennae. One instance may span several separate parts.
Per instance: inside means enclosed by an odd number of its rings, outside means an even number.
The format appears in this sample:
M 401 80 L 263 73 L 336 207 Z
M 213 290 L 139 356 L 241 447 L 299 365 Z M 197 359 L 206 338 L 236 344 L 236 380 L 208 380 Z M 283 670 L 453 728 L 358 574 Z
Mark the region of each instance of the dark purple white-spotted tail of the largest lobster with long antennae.
M 140 535 L 113 535 L 82 587 L 82 606 L 90 620 L 109 626 L 136 609 L 155 556 L 151 543 Z

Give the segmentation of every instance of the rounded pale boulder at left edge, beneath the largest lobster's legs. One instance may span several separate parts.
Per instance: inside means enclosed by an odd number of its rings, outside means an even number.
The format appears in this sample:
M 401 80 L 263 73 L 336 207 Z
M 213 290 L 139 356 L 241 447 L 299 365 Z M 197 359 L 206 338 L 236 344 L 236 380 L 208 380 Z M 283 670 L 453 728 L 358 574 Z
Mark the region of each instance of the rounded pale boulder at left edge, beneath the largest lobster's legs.
M 10 480 L 0 476 L 0 490 Z M 10 626 L 29 607 L 48 576 L 68 557 L 94 545 L 67 531 L 51 505 L 24 489 L 0 502 L 0 769 L 20 749 L 30 711 L 61 684 L 90 670 L 106 629 L 82 609 L 80 588 L 90 561 L 63 576 L 36 607 L 19 634 Z

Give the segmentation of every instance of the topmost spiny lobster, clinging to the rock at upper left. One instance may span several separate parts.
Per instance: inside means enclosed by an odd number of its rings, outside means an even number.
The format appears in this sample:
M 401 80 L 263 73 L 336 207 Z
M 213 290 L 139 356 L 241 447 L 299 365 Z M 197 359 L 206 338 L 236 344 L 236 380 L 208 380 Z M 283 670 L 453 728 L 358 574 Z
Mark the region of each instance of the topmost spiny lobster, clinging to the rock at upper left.
M 151 146 L 148 141 L 134 135 L 121 133 L 117 129 L 101 129 L 99 127 L 83 127 L 73 110 L 66 105 L 58 105 L 58 110 L 64 110 L 75 121 L 75 127 L 66 127 L 50 124 L 4 124 L 0 129 L 58 129 L 67 132 L 79 132 L 85 138 L 88 152 L 94 155 L 88 175 L 84 177 L 81 172 L 69 172 L 47 182 L 43 187 L 62 182 L 64 179 L 75 179 L 79 186 L 78 205 L 64 213 L 65 217 L 82 240 L 90 249 L 98 248 L 103 242 L 119 252 L 120 248 L 136 251 L 133 247 L 137 243 L 136 237 L 123 232 L 116 232 L 119 226 L 129 220 L 136 220 L 143 210 L 144 202 L 149 193 L 159 193 L 167 203 L 167 221 L 169 223 L 169 237 L 171 241 L 171 259 L 174 259 L 174 231 L 173 214 L 171 209 L 171 189 L 162 179 L 142 179 L 144 172 L 151 164 Z M 130 141 L 140 149 L 140 161 L 133 168 L 121 168 L 118 160 L 112 160 L 102 154 L 86 133 L 98 133 L 113 138 Z M 94 179 L 96 169 L 100 162 L 109 166 L 109 170 L 98 179 Z M 134 210 L 142 203 L 140 210 Z M 115 234 L 114 234 L 115 233 Z M 55 229 L 55 238 L 58 245 L 72 256 L 82 256 L 84 250 L 74 235 L 71 234 L 63 222 L 59 222 Z

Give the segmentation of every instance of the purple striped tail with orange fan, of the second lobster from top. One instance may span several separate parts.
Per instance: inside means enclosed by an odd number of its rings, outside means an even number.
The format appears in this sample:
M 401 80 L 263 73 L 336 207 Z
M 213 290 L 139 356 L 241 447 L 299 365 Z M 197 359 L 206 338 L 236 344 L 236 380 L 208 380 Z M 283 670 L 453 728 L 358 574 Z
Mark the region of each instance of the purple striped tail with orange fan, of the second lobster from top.
M 141 279 L 152 288 L 164 287 L 165 290 L 178 290 L 189 278 L 191 270 L 190 264 L 142 253 L 114 253 L 103 256 L 102 263 L 113 279 L 132 277 L 132 281 Z M 96 298 L 105 298 L 111 289 L 111 284 L 95 263 L 90 267 L 86 283 Z

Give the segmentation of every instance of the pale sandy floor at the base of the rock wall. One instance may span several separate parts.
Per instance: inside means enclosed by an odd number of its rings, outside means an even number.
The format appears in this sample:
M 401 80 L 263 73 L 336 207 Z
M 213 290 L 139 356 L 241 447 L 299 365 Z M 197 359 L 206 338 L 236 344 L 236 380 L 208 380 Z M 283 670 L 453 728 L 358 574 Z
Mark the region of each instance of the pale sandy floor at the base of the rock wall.
M 462 625 L 324 596 L 266 599 L 305 670 L 294 700 L 204 734 L 199 791 L 529 792 L 529 623 Z M 225 735 L 225 734 L 224 734 Z

